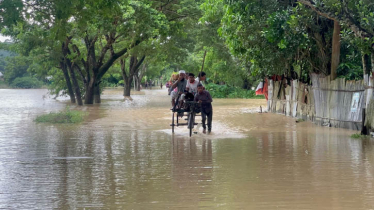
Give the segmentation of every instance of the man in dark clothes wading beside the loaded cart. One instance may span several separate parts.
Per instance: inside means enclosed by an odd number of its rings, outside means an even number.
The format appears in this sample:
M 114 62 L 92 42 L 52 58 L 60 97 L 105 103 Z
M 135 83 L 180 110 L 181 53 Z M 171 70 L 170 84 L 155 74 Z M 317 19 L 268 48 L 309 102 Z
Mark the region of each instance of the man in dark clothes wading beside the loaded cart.
M 195 95 L 195 101 L 201 104 L 201 117 L 203 124 L 203 133 L 206 133 L 205 121 L 208 117 L 208 133 L 212 131 L 212 118 L 213 118 L 213 108 L 212 108 L 212 96 L 206 90 L 202 84 L 197 85 L 197 94 Z

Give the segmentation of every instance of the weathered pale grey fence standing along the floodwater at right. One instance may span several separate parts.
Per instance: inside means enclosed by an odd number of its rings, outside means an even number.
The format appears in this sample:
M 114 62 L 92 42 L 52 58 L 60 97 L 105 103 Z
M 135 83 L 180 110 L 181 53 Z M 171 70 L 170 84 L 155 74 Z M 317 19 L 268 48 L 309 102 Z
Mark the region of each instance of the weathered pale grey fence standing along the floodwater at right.
M 360 130 L 366 107 L 363 81 L 346 81 L 312 74 L 312 86 L 269 81 L 268 111 L 311 120 L 319 125 Z

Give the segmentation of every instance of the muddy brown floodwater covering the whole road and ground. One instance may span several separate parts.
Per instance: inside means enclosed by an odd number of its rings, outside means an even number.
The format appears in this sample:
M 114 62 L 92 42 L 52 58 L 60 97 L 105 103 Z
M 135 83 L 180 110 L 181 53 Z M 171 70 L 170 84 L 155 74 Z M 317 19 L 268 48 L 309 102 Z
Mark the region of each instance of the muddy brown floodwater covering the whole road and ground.
M 214 100 L 213 132 L 172 135 L 166 90 L 106 90 L 79 125 L 46 90 L 0 90 L 0 209 L 374 209 L 374 142 Z

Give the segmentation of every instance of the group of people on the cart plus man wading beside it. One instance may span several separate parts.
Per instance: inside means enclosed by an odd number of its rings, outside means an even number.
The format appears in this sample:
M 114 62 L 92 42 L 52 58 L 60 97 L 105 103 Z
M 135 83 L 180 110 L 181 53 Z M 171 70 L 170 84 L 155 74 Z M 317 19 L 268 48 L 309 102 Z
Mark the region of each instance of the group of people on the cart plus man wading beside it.
M 171 75 L 170 81 L 166 84 L 169 88 L 169 95 L 171 97 L 172 110 L 188 109 L 185 102 L 195 101 L 199 104 L 199 111 L 201 112 L 203 133 L 206 133 L 206 120 L 208 119 L 208 133 L 212 131 L 212 96 L 204 87 L 206 73 L 201 71 L 195 78 L 193 73 L 186 73 L 180 70 Z M 182 113 L 183 116 L 183 113 Z

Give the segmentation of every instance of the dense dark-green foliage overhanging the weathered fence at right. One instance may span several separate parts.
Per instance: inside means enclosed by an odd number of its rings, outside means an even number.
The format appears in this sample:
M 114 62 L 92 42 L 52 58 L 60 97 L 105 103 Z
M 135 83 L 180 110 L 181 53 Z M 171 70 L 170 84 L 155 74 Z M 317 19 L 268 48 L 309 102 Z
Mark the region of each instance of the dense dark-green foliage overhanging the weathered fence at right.
M 362 77 L 359 65 L 348 55 L 352 50 L 356 54 L 373 51 L 374 4 L 370 0 L 304 2 L 340 20 L 342 45 L 353 46 L 341 52 L 344 64 L 340 76 Z M 277 0 L 206 0 L 202 9 L 205 12 L 202 21 L 214 23 L 219 19 L 219 35 L 252 76 L 290 76 L 296 69 L 299 77 L 310 72 L 330 74 L 333 21 L 319 16 L 310 6 Z M 352 24 L 357 27 L 350 27 Z

